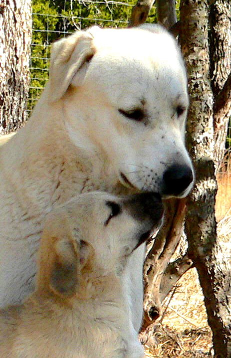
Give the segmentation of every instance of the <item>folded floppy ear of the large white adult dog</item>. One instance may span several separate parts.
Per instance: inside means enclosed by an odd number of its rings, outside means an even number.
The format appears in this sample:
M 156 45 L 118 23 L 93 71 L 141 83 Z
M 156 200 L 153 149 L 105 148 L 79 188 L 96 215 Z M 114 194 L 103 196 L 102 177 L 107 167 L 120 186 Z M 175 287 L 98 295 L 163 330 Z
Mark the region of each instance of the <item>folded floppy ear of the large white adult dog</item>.
M 52 46 L 49 72 L 49 101 L 61 98 L 70 84 L 81 85 L 88 63 L 95 54 L 93 36 L 76 31 Z

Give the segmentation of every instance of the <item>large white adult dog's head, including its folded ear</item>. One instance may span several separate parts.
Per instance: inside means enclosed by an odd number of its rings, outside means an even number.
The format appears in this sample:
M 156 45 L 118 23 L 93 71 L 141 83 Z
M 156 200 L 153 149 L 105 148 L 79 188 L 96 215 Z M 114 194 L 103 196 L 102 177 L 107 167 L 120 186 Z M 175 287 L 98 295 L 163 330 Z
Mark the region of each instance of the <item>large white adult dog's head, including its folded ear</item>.
M 71 141 L 101 159 L 105 182 L 166 197 L 189 193 L 187 78 L 166 30 L 94 26 L 75 32 L 54 44 L 48 86 L 50 102 L 62 105 Z

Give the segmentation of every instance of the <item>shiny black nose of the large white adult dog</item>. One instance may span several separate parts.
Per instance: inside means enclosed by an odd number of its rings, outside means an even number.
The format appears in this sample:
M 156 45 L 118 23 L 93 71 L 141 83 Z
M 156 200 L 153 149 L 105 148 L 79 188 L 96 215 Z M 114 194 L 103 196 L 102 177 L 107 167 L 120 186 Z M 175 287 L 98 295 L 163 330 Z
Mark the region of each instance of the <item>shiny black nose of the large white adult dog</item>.
M 180 196 L 193 181 L 189 166 L 172 165 L 164 173 L 163 195 Z

